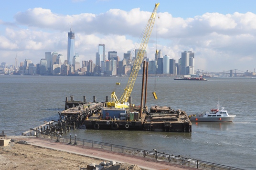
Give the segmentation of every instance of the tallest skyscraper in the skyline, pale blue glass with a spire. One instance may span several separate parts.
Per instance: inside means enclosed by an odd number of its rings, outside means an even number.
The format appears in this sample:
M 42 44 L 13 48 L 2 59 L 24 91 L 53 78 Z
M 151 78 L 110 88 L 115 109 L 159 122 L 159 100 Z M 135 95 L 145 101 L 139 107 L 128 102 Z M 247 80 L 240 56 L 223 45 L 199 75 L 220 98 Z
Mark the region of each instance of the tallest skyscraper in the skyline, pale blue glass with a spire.
M 70 28 L 70 32 L 68 32 L 67 35 L 67 60 L 68 64 L 72 65 L 72 60 L 75 56 L 75 32 L 73 32 L 72 27 Z

